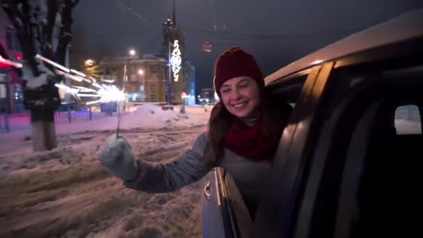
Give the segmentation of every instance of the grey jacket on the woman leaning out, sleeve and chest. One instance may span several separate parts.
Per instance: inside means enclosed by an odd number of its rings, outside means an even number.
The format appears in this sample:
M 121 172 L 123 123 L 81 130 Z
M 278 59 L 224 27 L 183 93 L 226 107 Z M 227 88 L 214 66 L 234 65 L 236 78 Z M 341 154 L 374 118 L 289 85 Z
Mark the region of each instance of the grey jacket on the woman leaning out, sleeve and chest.
M 193 147 L 177 159 L 164 164 L 151 164 L 138 160 L 138 177 L 124 182 L 130 189 L 150 193 L 166 193 L 200 180 L 212 166 L 202 157 L 208 136 L 200 134 Z M 269 161 L 252 161 L 225 149 L 221 162 L 217 165 L 230 173 L 247 206 L 256 206 L 260 198 L 266 175 L 269 174 Z

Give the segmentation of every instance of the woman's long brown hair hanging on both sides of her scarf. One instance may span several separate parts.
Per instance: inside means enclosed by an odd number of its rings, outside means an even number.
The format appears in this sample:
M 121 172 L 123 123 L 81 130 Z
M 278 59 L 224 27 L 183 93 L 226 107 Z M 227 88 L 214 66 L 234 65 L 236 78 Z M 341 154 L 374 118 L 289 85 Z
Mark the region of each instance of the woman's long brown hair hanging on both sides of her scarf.
M 278 146 L 282 130 L 287 125 L 291 109 L 292 107 L 289 104 L 283 102 L 281 105 L 269 93 L 266 93 L 264 88 L 260 88 L 260 104 L 258 105 L 258 110 L 260 118 L 263 120 L 263 125 L 265 125 L 262 138 L 268 138 L 274 148 Z M 216 165 L 223 157 L 223 137 L 226 130 L 231 126 L 232 120 L 239 119 L 233 116 L 222 102 L 218 102 L 213 107 L 210 113 L 207 132 L 209 141 L 206 144 L 204 156 L 207 163 Z

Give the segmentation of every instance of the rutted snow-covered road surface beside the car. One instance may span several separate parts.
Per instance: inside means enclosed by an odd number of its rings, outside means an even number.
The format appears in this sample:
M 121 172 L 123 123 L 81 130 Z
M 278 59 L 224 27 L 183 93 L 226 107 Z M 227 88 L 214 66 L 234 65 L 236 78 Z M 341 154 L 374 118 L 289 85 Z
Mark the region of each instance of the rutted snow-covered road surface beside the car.
M 182 154 L 205 126 L 128 129 L 140 159 Z M 99 165 L 112 132 L 58 136 L 59 147 L 0 159 L 0 237 L 201 237 L 204 181 L 173 193 L 122 187 Z

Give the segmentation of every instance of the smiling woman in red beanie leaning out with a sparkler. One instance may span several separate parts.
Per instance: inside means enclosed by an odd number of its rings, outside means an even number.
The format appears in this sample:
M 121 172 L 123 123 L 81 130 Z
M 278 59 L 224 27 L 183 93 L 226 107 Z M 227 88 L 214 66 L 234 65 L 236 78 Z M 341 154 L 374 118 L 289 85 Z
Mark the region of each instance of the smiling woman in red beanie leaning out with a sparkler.
M 255 58 L 239 47 L 218 57 L 214 88 L 220 97 L 212 109 L 208 132 L 191 150 L 166 164 L 134 159 L 125 138 L 111 136 L 100 161 L 131 189 L 151 193 L 174 191 L 200 180 L 213 167 L 225 168 L 254 217 L 266 175 L 292 108 L 273 105 Z

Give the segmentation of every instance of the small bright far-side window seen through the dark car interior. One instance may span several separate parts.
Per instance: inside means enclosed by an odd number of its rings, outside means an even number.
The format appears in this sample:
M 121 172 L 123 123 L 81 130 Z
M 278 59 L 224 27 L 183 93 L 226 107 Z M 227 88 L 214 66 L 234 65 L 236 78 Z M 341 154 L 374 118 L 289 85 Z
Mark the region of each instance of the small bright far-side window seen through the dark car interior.
M 417 105 L 399 106 L 395 111 L 397 134 L 422 134 L 422 120 Z

